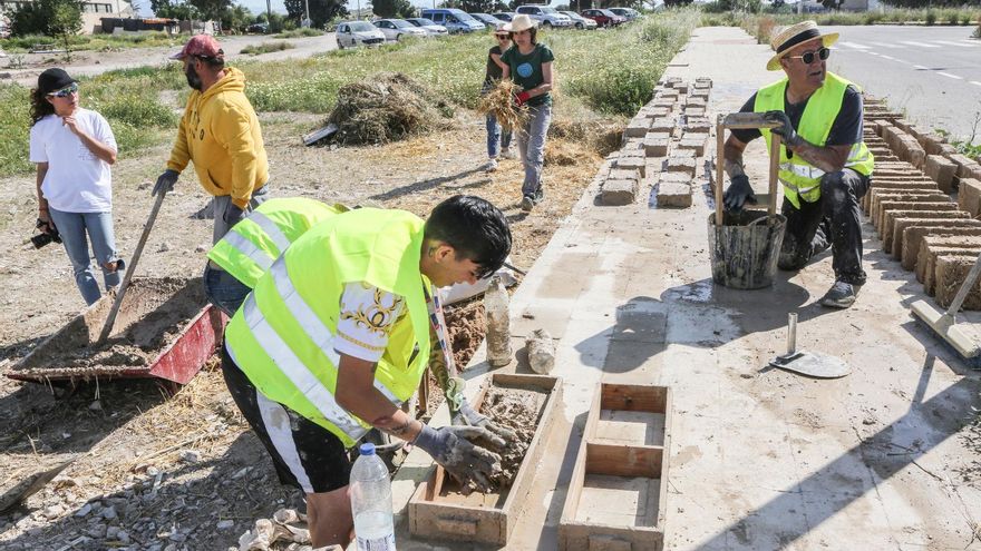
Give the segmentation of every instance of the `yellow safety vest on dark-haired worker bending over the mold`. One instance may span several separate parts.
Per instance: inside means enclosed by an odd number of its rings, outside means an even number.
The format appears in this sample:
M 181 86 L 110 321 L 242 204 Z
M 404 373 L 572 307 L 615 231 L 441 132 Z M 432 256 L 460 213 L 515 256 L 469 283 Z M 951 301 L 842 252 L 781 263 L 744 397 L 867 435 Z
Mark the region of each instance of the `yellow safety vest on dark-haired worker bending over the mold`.
M 361 208 L 328 218 L 297 239 L 255 285 L 225 329 L 232 358 L 266 397 L 354 445 L 370 425 L 334 399 L 334 351 L 344 285 L 365 282 L 405 299 L 375 372 L 397 405 L 419 386 L 429 358 L 429 317 L 419 272 L 422 220 Z

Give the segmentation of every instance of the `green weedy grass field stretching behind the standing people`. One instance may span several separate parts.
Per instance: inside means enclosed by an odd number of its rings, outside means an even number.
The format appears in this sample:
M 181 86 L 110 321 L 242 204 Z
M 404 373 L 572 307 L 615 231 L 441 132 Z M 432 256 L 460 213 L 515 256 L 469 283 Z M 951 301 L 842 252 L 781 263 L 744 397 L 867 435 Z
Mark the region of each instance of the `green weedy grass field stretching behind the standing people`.
M 695 10 L 672 10 L 624 29 L 540 32 L 540 41 L 556 58 L 556 126 L 563 122 L 567 132 L 589 135 L 601 120 L 635 114 L 652 97 L 658 78 L 688 41 L 698 18 Z M 343 85 L 382 71 L 406 73 L 439 99 L 475 109 L 490 46 L 487 35 L 476 33 L 235 66 L 245 72 L 245 92 L 260 112 L 328 114 Z M 122 156 L 173 139 L 178 120 L 173 108 L 179 106 L 162 104 L 159 92 L 173 90 L 177 101 L 186 98 L 187 85 L 176 63 L 79 80 L 81 105 L 108 119 Z M 27 161 L 28 125 L 27 88 L 0 85 L 0 177 L 33 169 Z

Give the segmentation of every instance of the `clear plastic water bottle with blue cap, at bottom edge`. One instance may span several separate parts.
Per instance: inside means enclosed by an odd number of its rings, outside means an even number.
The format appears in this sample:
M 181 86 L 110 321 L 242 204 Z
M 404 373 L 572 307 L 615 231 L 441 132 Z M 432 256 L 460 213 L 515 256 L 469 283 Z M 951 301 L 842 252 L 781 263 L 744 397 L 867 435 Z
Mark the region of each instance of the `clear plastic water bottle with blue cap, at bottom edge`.
M 358 551 L 395 551 L 391 518 L 391 480 L 375 454 L 375 444 L 361 444 L 361 456 L 351 468 L 351 512 Z

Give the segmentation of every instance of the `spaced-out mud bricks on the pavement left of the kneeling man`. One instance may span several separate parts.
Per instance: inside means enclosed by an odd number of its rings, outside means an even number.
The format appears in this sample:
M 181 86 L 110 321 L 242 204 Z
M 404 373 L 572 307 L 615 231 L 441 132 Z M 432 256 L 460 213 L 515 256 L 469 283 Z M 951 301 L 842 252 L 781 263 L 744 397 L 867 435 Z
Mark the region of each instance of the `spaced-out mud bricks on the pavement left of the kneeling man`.
M 654 97 L 627 126 L 623 145 L 606 158 L 596 178 L 600 205 L 632 205 L 650 198 L 659 207 L 691 206 L 692 183 L 706 152 L 711 124 L 706 117 L 712 81 L 658 82 Z

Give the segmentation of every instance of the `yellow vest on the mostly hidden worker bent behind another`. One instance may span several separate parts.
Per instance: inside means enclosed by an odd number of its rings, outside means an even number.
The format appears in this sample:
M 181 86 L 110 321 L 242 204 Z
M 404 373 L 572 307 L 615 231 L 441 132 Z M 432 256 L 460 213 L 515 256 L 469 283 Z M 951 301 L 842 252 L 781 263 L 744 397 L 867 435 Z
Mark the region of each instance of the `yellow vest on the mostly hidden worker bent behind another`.
M 269 199 L 231 230 L 208 252 L 207 257 L 249 288 L 291 243 L 311 226 L 348 210 L 302 197 Z

